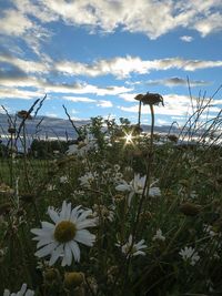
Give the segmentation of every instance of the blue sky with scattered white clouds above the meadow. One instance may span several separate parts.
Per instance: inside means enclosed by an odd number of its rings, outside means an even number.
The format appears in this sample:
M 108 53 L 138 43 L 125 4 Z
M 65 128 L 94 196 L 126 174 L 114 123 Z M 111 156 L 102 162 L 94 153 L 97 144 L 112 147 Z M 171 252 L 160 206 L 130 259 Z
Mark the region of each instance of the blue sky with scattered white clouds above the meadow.
M 64 105 L 73 120 L 137 123 L 134 96 L 151 92 L 164 99 L 155 124 L 180 125 L 192 112 L 188 81 L 194 105 L 222 84 L 221 0 L 0 0 L 0 113 L 47 94 L 39 115 L 65 119 Z

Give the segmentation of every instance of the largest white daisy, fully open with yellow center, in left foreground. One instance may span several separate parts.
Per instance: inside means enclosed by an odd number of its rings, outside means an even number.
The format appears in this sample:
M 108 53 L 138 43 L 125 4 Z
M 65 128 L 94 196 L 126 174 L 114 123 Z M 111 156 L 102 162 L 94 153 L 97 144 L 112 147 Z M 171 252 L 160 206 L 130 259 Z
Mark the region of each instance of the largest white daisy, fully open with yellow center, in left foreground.
M 95 235 L 85 229 L 97 225 L 97 218 L 88 218 L 92 211 L 82 210 L 80 205 L 71 210 L 71 203 L 64 201 L 60 213 L 48 207 L 48 214 L 53 224 L 42 222 L 42 228 L 31 229 L 37 235 L 33 239 L 38 241 L 39 248 L 34 255 L 40 258 L 50 255 L 49 266 L 59 257 L 62 257 L 62 266 L 70 266 L 72 257 L 80 262 L 78 243 L 92 246 L 95 241 Z

